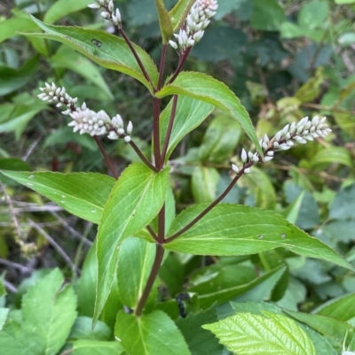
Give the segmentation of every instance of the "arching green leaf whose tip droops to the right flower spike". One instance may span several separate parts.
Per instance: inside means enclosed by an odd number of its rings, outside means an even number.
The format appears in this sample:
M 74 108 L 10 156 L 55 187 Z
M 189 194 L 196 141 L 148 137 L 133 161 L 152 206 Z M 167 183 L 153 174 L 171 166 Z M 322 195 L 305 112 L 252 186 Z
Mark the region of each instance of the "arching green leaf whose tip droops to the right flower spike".
M 256 150 L 263 154 L 248 112 L 238 97 L 223 82 L 217 81 L 204 73 L 182 72 L 178 74 L 174 82 L 155 94 L 157 97 L 168 95 L 191 96 L 229 112 L 233 119 L 241 124 L 241 127 L 255 144 Z

